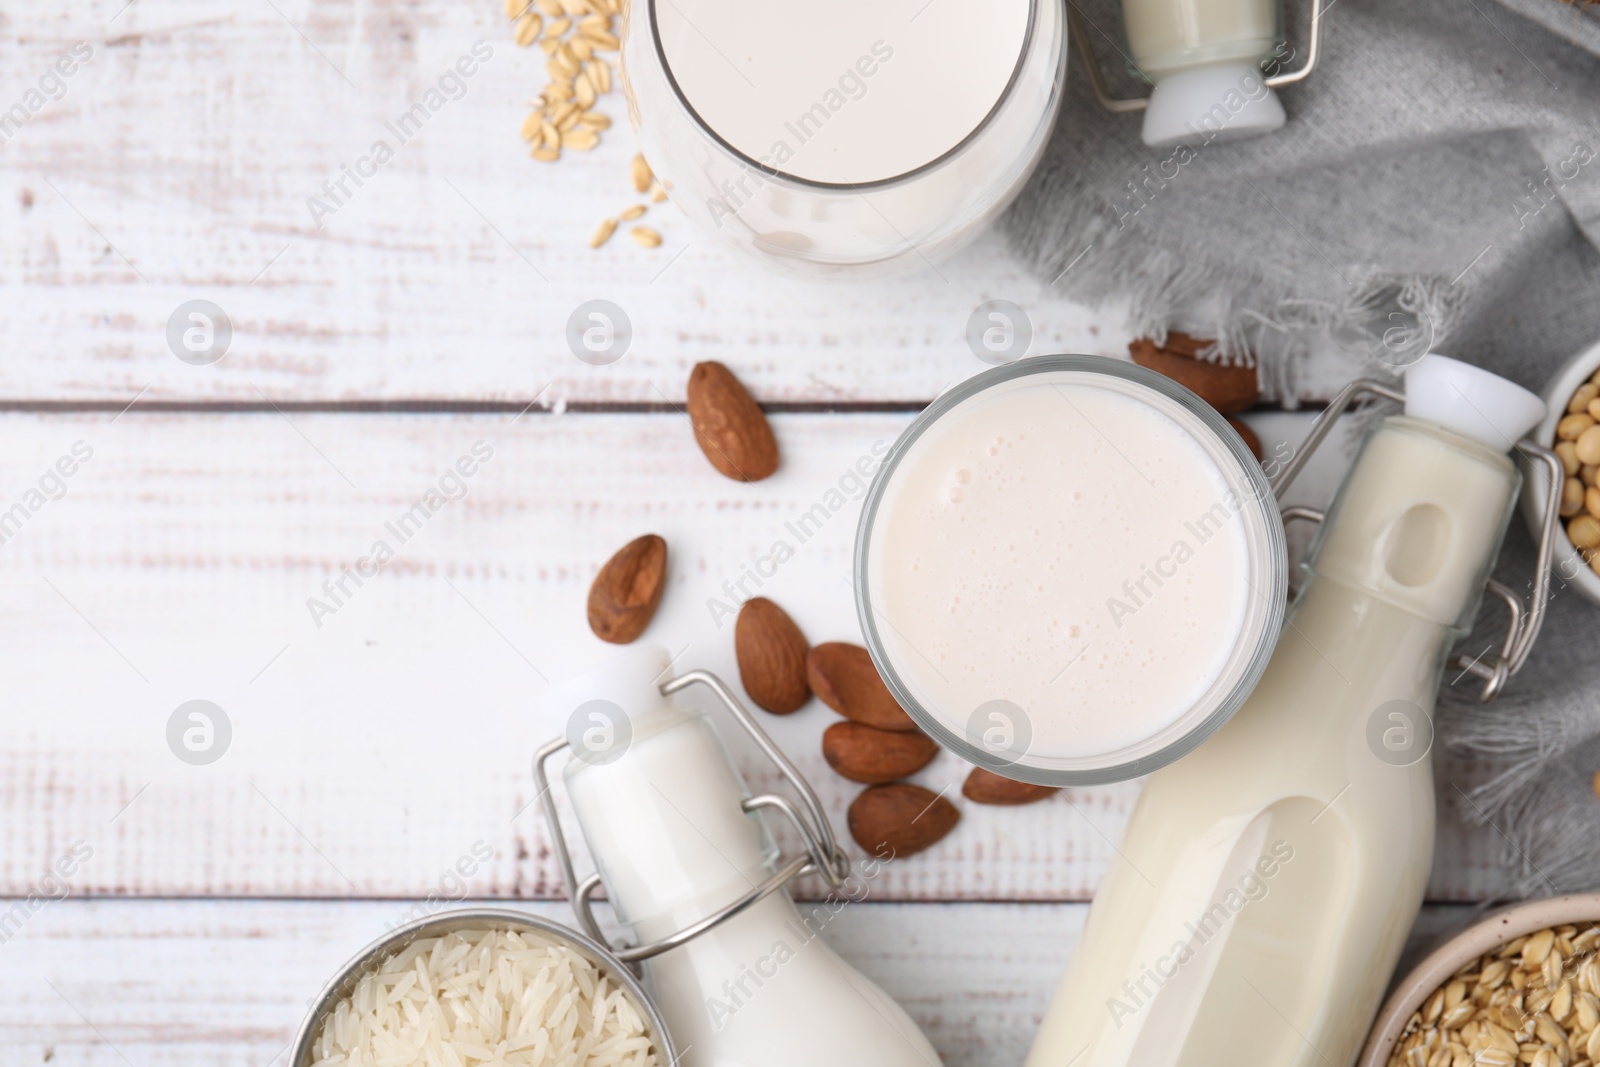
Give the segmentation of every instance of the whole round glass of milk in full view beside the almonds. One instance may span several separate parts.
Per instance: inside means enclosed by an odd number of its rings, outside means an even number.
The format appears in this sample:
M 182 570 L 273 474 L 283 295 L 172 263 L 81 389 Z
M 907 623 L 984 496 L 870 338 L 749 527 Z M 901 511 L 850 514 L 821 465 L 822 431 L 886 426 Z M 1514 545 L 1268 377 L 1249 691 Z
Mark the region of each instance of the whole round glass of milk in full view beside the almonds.
M 1077 785 L 1146 774 L 1240 707 L 1283 621 L 1283 525 L 1205 402 L 1133 363 L 1021 360 L 928 406 L 856 539 L 896 699 L 963 758 Z

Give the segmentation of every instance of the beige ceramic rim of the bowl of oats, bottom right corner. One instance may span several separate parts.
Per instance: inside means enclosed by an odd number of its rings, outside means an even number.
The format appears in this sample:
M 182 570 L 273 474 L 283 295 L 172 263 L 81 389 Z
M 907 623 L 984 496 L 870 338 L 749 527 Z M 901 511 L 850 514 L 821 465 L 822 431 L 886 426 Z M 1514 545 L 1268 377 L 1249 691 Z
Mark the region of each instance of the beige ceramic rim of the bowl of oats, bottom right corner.
M 1386 1067 L 1406 1021 L 1462 965 L 1536 929 L 1590 921 L 1600 921 L 1600 893 L 1526 901 L 1467 926 L 1435 949 L 1395 985 L 1389 1000 L 1384 1001 L 1382 1011 L 1378 1013 L 1378 1022 L 1373 1024 L 1373 1032 L 1366 1038 L 1366 1048 L 1362 1049 L 1357 1067 Z

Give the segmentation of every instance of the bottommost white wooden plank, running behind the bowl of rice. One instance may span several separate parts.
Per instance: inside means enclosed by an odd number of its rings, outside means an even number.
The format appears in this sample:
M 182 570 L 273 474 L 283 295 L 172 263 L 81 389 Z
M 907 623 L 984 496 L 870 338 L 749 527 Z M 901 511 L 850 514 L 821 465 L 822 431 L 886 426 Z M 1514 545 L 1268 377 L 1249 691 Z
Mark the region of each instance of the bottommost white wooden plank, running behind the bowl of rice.
M 570 921 L 565 905 L 523 905 Z M 845 907 L 824 937 L 912 1014 L 946 1067 L 1027 1054 L 1083 926 L 1082 904 Z M 274 1067 L 309 1001 L 395 904 L 66 901 L 3 945 L 0 1048 L 62 1067 Z M 1429 907 L 1413 937 L 1456 929 Z

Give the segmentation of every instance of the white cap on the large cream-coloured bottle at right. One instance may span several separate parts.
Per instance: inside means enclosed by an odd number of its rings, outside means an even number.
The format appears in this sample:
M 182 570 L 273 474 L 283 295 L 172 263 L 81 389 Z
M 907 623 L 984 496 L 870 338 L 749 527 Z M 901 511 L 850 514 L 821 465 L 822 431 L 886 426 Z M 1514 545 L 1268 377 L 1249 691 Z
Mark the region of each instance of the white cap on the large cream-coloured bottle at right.
M 1544 418 L 1544 402 L 1517 382 L 1445 355 L 1405 373 L 1405 413 L 1509 453 Z

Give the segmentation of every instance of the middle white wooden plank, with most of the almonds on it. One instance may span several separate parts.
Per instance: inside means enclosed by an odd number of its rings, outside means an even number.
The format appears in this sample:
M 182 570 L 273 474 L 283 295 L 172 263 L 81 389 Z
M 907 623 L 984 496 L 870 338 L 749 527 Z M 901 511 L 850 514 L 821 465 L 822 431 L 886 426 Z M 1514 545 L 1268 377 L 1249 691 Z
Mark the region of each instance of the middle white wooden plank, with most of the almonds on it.
M 528 761 L 562 728 L 536 710 L 544 680 L 610 654 L 584 625 L 598 565 L 662 534 L 672 574 L 645 640 L 736 680 L 717 601 L 789 541 L 794 558 L 746 592 L 814 641 L 858 640 L 858 506 L 803 542 L 786 525 L 840 485 L 859 496 L 858 461 L 907 419 L 781 416 L 784 467 L 757 485 L 712 472 L 674 414 L 0 419 L 0 510 L 77 442 L 93 450 L 0 545 L 0 891 L 29 893 L 82 840 L 83 894 L 557 896 Z M 389 525 L 475 442 L 493 458 L 466 496 L 397 537 Z M 397 553 L 378 577 L 346 581 L 346 597 L 323 587 L 378 541 Z M 314 597 L 336 605 L 320 627 Z M 232 723 L 208 766 L 168 747 L 192 699 Z M 763 721 L 842 827 L 859 787 L 821 760 L 832 712 Z M 778 785 L 733 744 L 754 787 Z M 963 776 L 944 753 L 917 781 L 954 795 Z M 960 827 L 894 864 L 880 897 L 1088 899 L 1136 792 L 963 803 Z M 1506 878 L 1498 835 L 1442 813 L 1434 896 L 1488 896 Z M 494 859 L 442 889 L 475 846 Z

